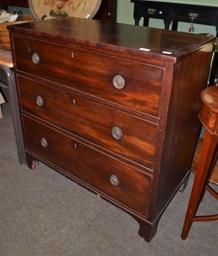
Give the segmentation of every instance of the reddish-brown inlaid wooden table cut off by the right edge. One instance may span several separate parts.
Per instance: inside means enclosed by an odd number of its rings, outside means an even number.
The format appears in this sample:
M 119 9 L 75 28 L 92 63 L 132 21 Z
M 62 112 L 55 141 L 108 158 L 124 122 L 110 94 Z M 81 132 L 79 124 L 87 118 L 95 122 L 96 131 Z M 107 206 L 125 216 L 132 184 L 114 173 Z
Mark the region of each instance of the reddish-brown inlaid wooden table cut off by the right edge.
M 189 206 L 182 230 L 182 239 L 186 239 L 193 221 L 214 221 L 218 215 L 196 216 L 199 203 L 205 191 L 218 200 L 218 194 L 208 186 L 218 156 L 218 86 L 206 88 L 201 93 L 202 106 L 199 119 L 205 126 L 205 138 L 201 148 L 194 183 L 192 186 Z

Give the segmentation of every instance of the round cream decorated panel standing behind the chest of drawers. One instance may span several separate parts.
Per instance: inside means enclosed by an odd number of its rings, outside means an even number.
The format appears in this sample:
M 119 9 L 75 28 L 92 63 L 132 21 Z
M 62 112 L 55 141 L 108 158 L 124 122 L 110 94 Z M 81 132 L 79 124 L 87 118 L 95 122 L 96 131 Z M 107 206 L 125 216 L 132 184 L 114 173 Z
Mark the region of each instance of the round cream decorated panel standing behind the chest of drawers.
M 36 20 L 58 17 L 91 19 L 97 13 L 102 0 L 28 0 Z

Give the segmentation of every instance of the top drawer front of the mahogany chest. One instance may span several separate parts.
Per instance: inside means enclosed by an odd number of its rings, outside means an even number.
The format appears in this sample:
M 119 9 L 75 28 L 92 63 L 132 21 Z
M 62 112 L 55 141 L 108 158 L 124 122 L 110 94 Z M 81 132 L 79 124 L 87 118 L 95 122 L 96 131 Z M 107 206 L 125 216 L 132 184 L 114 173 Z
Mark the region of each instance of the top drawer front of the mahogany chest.
M 19 36 L 14 36 L 14 47 L 18 70 L 119 104 L 119 108 L 159 115 L 163 68 Z

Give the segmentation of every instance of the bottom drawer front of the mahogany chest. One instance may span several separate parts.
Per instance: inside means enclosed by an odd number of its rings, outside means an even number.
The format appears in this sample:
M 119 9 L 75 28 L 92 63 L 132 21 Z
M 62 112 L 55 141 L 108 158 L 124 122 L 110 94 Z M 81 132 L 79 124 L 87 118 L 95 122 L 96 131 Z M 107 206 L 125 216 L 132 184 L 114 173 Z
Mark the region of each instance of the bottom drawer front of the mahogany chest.
M 23 115 L 23 120 L 27 150 L 104 195 L 146 215 L 150 177 L 27 116 Z

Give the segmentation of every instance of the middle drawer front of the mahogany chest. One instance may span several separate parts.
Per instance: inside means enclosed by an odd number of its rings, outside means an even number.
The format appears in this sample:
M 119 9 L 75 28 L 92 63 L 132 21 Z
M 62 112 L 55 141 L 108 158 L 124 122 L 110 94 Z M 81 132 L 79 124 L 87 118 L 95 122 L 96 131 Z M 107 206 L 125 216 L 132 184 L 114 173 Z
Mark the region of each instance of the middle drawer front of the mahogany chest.
M 153 167 L 156 124 L 31 79 L 18 76 L 18 81 L 22 110 L 138 164 Z

